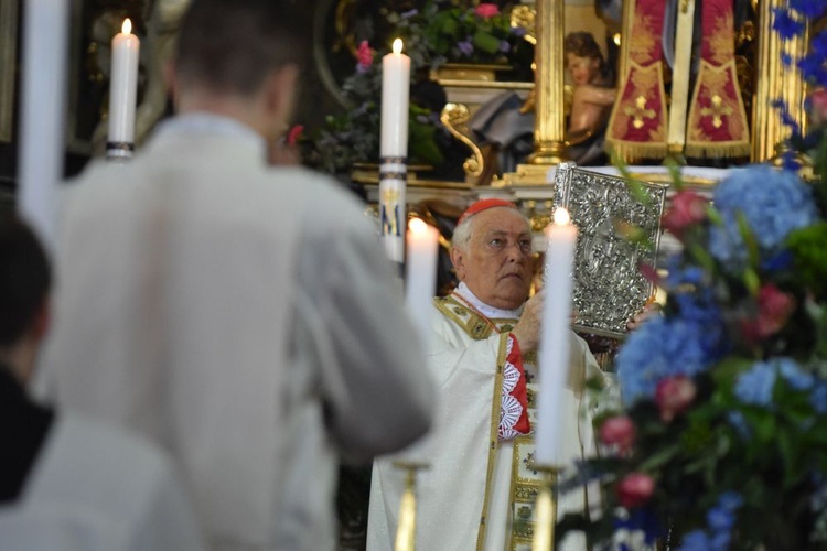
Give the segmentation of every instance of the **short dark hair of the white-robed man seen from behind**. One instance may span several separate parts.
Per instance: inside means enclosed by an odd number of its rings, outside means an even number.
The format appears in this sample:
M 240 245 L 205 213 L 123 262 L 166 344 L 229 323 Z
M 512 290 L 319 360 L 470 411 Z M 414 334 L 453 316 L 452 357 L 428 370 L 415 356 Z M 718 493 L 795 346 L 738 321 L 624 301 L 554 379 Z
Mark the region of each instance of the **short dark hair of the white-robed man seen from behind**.
M 273 71 L 303 65 L 299 0 L 192 0 L 179 34 L 180 86 L 251 95 Z

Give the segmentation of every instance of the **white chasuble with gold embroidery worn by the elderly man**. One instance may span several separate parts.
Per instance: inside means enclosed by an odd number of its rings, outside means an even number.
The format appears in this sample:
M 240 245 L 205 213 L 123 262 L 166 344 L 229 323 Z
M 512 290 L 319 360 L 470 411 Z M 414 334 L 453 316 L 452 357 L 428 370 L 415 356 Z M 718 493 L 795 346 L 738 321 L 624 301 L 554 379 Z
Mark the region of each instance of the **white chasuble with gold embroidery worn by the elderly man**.
M 404 473 L 395 460 L 428 463 L 418 476 L 417 545 L 420 549 L 528 551 L 539 473 L 529 465 L 533 435 L 501 439 L 501 396 L 508 333 L 515 318 L 487 318 L 452 298 L 434 299 L 428 368 L 440 388 L 436 424 L 426 440 L 374 465 L 368 551 L 393 549 Z M 586 343 L 571 333 L 571 412 L 562 422 L 563 450 L 572 461 L 593 451 L 586 378 L 600 375 Z M 526 357 L 527 356 L 527 357 Z M 535 355 L 524 356 L 528 415 L 537 429 Z M 586 493 L 560 496 L 558 515 L 582 510 Z M 597 503 L 597 496 L 594 496 Z M 571 537 L 563 551 L 586 549 Z

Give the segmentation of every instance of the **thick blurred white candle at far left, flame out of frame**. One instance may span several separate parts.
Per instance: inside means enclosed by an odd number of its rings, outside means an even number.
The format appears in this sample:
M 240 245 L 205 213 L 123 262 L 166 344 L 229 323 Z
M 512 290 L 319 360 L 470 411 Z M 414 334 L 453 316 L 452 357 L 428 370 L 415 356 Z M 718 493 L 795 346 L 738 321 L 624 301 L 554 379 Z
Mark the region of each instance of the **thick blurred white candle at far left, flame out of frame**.
M 26 0 L 23 9 L 18 209 L 46 247 L 63 176 L 68 9 L 66 0 Z

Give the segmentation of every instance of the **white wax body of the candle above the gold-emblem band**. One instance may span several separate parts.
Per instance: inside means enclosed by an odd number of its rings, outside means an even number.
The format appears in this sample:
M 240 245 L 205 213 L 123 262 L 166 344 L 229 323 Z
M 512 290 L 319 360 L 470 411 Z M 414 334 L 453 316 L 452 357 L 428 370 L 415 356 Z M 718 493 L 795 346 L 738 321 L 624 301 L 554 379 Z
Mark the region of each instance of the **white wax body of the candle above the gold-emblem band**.
M 409 93 L 410 57 L 402 53 L 387 54 L 382 58 L 380 156 L 408 155 Z

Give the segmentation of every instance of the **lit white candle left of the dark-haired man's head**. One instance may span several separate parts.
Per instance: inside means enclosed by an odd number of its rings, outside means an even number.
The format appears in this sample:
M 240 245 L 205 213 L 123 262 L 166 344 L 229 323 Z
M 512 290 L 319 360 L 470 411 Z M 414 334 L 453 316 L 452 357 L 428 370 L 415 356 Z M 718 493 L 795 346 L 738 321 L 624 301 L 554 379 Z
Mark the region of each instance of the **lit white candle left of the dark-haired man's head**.
M 135 142 L 140 47 L 140 40 L 132 34 L 132 22 L 125 19 L 121 32 L 112 39 L 109 80 L 109 143 L 116 150 Z

